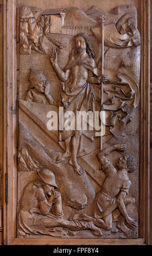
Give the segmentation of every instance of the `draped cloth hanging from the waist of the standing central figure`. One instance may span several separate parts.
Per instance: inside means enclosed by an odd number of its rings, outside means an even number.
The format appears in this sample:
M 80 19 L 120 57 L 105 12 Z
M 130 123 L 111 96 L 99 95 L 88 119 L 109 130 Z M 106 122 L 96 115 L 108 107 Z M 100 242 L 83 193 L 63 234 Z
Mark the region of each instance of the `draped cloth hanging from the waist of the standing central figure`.
M 78 111 L 93 111 L 96 109 L 96 97 L 91 83 L 86 82 L 84 86 L 73 89 L 69 87 L 67 82 L 62 83 L 60 88 L 60 103 L 64 106 L 64 113 L 72 111 L 74 117 L 71 119 L 65 118 L 65 129 L 59 131 L 59 141 L 72 137 L 77 132 L 77 112 Z M 73 130 L 66 128 L 73 122 Z M 80 121 L 80 130 L 83 129 L 84 121 Z

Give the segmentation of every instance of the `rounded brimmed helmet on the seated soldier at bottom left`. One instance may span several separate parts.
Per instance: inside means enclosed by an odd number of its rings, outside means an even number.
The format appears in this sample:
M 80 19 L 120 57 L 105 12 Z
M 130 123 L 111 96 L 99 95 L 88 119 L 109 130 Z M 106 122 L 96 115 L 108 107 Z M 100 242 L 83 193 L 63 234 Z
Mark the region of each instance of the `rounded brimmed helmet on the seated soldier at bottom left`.
M 56 181 L 55 181 L 55 175 L 54 175 L 54 173 L 52 172 L 52 170 L 40 169 L 40 170 L 37 170 L 37 174 L 39 174 L 39 176 L 41 177 L 41 179 L 42 179 L 46 184 L 58 188 L 58 186 L 56 185 Z

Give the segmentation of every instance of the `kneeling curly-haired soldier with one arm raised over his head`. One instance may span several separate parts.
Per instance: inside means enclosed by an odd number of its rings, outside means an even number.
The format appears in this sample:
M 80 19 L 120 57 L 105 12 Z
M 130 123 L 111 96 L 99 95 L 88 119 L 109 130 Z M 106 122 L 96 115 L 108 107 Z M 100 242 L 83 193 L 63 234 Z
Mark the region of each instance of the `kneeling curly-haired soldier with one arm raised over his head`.
M 121 217 L 119 218 L 117 227 L 126 235 L 131 234 L 132 230 L 126 227 L 125 222 L 130 224 L 131 227 L 137 227 L 137 221 L 129 216 L 129 212 L 131 212 L 135 204 L 135 199 L 126 197 L 131 186 L 128 173 L 134 172 L 137 166 L 136 159 L 131 155 L 122 155 L 116 164 L 117 170 L 106 158 L 106 155 L 114 150 L 126 151 L 126 149 L 125 144 L 117 144 L 103 149 L 98 153 L 97 157 L 102 164 L 105 179 L 102 184 L 102 190 L 97 194 L 95 199 L 94 218 L 86 214 L 81 214 L 73 216 L 73 220 L 93 221 L 97 227 L 111 230 L 112 212 L 118 208 Z

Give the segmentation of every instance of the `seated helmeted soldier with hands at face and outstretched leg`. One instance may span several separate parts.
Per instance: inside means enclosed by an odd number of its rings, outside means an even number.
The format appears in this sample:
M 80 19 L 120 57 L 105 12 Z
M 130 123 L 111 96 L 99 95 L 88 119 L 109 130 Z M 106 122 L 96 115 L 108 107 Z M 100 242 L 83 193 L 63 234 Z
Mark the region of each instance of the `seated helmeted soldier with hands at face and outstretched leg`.
M 102 231 L 93 222 L 64 220 L 61 194 L 54 173 L 48 169 L 37 170 L 37 178 L 24 188 L 18 216 L 18 233 L 62 236 L 61 229 L 76 231 L 90 229 L 94 235 L 102 236 Z M 54 229 L 58 227 L 58 229 Z M 53 228 L 53 229 L 52 229 Z

